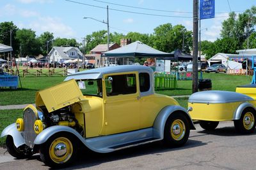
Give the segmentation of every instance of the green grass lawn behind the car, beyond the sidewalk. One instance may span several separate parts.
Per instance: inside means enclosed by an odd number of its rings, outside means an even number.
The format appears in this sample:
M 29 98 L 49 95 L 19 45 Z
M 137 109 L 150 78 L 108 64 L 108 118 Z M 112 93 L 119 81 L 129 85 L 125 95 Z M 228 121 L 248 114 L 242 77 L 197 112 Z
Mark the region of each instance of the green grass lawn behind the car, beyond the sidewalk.
M 204 73 L 203 78 L 211 79 L 212 90 L 228 91 L 235 91 L 238 85 L 249 84 L 252 80 L 252 76 L 227 75 L 222 73 Z M 62 76 L 21 77 L 22 89 L 20 87 L 17 90 L 0 89 L 0 105 L 35 103 L 36 91 L 61 83 L 64 79 L 65 77 Z M 191 80 L 180 80 L 178 81 L 178 89 L 158 90 L 156 92 L 167 96 L 180 96 L 192 94 L 191 89 Z

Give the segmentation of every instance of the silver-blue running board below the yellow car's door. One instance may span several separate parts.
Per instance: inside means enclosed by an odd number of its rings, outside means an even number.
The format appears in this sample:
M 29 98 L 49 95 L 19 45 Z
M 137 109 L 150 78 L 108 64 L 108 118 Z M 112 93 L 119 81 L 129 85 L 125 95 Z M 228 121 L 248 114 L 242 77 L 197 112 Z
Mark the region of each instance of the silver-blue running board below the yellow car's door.
M 154 128 L 150 127 L 138 131 L 89 138 L 85 139 L 84 143 L 95 152 L 107 153 L 161 140 L 155 136 Z

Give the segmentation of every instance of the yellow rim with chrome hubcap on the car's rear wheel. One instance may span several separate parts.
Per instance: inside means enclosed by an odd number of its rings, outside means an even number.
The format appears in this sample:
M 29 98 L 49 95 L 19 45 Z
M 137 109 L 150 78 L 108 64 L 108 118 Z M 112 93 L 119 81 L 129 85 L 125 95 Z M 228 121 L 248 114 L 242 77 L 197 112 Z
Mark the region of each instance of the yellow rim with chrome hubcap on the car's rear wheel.
M 172 122 L 171 135 L 175 141 L 180 141 L 185 136 L 185 132 L 186 127 L 182 120 L 177 119 Z

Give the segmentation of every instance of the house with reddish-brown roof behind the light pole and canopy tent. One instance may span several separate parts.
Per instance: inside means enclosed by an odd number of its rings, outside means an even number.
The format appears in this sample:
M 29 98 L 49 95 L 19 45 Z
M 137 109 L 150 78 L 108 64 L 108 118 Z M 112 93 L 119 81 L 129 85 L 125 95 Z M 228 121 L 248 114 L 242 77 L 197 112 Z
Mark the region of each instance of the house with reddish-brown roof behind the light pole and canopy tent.
M 116 48 L 120 48 L 120 45 L 118 45 L 117 43 L 109 44 L 109 51 L 114 50 Z M 108 44 L 95 46 L 95 48 L 90 50 L 90 54 L 86 54 L 85 57 L 86 59 L 88 59 L 89 57 L 92 59 L 94 57 L 95 66 L 96 67 L 103 66 L 104 63 L 106 62 L 106 59 L 105 57 L 102 57 L 102 61 L 100 62 L 100 59 L 101 59 L 100 56 L 102 52 L 108 52 Z

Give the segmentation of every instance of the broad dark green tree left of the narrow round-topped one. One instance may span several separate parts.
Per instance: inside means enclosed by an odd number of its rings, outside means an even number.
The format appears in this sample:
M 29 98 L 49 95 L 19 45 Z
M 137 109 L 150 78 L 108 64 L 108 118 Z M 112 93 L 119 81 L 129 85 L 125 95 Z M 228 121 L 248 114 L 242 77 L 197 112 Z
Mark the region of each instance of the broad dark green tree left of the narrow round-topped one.
M 19 39 L 23 57 L 26 55 L 40 54 L 40 42 L 36 38 L 35 31 L 31 29 L 20 29 L 17 31 L 16 38 Z

